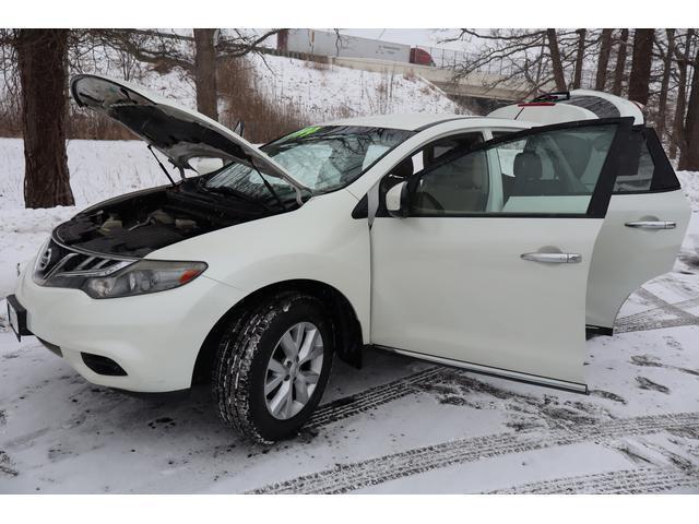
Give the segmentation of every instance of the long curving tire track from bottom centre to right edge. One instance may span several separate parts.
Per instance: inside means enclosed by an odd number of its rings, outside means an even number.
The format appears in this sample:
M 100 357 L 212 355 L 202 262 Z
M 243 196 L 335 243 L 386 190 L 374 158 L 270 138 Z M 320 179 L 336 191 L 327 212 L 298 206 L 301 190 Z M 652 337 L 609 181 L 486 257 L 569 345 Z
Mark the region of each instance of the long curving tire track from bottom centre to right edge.
M 608 443 L 616 439 L 662 431 L 699 430 L 699 413 L 650 415 L 602 424 L 578 425 L 572 430 L 498 433 L 416 448 L 303 475 L 258 488 L 252 493 L 344 493 L 457 464 L 582 442 Z

